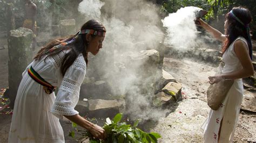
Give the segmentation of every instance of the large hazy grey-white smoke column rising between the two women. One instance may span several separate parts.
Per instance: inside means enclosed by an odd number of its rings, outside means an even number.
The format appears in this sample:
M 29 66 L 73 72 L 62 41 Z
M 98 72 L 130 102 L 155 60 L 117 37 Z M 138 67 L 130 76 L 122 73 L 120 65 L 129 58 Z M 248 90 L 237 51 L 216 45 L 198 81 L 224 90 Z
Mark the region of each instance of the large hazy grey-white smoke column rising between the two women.
M 129 98 L 136 99 L 132 103 L 129 111 L 134 115 L 134 118 L 158 118 L 160 115 L 165 115 L 166 111 L 153 109 L 152 101 L 148 96 L 143 95 L 142 89 L 151 91 L 151 86 L 140 87 L 137 83 L 149 83 L 145 78 L 144 81 L 138 81 L 136 73 L 143 73 L 143 64 L 138 69 L 134 68 L 131 63 L 130 55 L 146 49 L 164 48 L 159 47 L 159 43 L 163 42 L 164 33 L 161 30 L 163 27 L 158 15 L 159 8 L 144 0 L 102 0 L 105 5 L 100 5 L 99 1 L 90 1 L 93 8 L 98 8 L 100 13 L 100 22 L 106 27 L 106 37 L 103 42 L 103 49 L 96 55 L 96 62 L 90 61 L 93 68 L 99 68 L 95 71 L 100 71 L 101 75 L 109 74 L 110 78 L 105 78 L 113 88 L 115 95 L 129 95 Z M 83 1 L 86 5 L 89 2 Z M 111 3 L 111 4 L 110 4 Z M 107 6 L 106 6 L 107 5 Z M 102 7 L 101 7 L 102 6 Z M 85 9 L 85 8 L 84 8 Z M 100 9 L 100 10 L 99 10 Z M 81 10 L 79 10 L 81 12 Z M 92 19 L 95 10 L 84 12 L 88 19 Z M 89 57 L 90 58 L 90 57 Z M 137 61 L 143 62 L 143 61 Z M 115 63 L 115 64 L 113 64 Z M 134 63 L 135 64 L 135 63 Z M 113 66 L 114 65 L 114 66 Z M 118 68 L 117 68 L 118 67 Z M 87 74 L 88 72 L 86 72 Z M 95 74 L 95 73 L 93 73 Z M 152 75 L 156 76 L 156 75 Z M 151 79 L 149 77 L 149 79 Z M 150 104 L 150 105 L 149 105 Z M 143 106 L 144 109 L 140 109 Z M 146 112 L 147 111 L 147 112 Z M 150 113 L 149 113 L 150 112 Z

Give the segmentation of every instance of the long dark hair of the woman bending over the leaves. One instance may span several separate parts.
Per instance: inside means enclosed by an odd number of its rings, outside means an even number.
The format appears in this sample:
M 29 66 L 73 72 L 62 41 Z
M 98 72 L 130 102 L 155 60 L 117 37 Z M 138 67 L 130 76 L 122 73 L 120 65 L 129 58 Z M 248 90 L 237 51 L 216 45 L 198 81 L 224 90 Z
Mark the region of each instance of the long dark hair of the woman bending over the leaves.
M 96 31 L 106 32 L 106 29 L 103 26 L 103 24 L 94 19 L 86 22 L 81 27 L 81 30 L 96 30 Z M 91 35 L 91 36 L 92 36 L 92 38 L 96 37 L 96 35 Z M 64 47 L 56 48 L 51 53 L 46 54 L 46 52 L 49 49 L 51 49 L 53 46 L 59 45 L 62 42 L 70 41 L 73 38 L 75 38 L 75 41 L 71 42 L 70 44 L 65 45 Z M 49 42 L 49 44 L 47 44 L 45 47 L 40 49 L 40 51 L 37 53 L 37 55 L 33 59 L 39 60 L 44 55 L 47 55 L 46 58 L 48 58 L 48 56 L 56 55 L 59 52 L 63 51 L 64 49 L 70 49 L 70 52 L 65 54 L 64 57 L 62 58 L 62 62 L 61 62 L 61 66 L 60 66 L 60 71 L 61 71 L 62 75 L 64 76 L 66 73 L 66 70 L 72 65 L 72 63 L 76 60 L 77 56 L 80 53 L 83 54 L 84 59 L 87 64 L 87 53 L 86 53 L 87 46 L 88 46 L 88 41 L 86 40 L 86 34 L 69 35 L 68 37 L 58 38 L 58 39 L 55 39 L 55 40 Z

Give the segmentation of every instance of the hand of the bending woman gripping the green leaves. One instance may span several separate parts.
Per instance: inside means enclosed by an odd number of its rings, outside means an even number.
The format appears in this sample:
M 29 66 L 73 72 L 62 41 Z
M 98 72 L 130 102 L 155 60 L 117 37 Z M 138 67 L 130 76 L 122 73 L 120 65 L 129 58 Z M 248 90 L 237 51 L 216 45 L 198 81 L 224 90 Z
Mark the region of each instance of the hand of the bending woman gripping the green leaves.
M 105 130 L 102 127 L 95 125 L 95 124 L 91 125 L 91 127 L 89 128 L 89 132 L 96 139 L 105 139 L 107 136 Z

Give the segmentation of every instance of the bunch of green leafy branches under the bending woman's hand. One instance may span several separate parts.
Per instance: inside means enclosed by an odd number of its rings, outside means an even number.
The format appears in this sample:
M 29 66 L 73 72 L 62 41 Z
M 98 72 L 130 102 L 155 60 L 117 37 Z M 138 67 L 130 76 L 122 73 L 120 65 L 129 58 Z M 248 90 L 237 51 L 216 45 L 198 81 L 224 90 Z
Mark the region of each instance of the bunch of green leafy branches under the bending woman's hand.
M 103 126 L 107 138 L 104 140 L 93 139 L 92 134 L 86 132 L 82 134 L 83 138 L 90 138 L 90 142 L 157 142 L 158 138 L 161 138 L 158 133 L 146 133 L 139 128 L 137 128 L 139 124 L 139 120 L 136 120 L 133 124 L 127 125 L 125 121 L 122 120 L 122 113 L 118 113 L 111 120 L 110 118 L 106 118 L 106 123 Z M 70 136 L 74 137 L 74 134 L 70 132 Z

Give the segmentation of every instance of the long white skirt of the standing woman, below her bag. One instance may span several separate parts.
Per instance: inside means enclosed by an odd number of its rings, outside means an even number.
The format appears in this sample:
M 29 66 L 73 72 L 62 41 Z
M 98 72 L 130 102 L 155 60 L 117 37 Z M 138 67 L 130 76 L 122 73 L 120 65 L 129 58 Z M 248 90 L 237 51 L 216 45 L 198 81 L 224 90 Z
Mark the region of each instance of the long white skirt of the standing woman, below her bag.
M 205 142 L 232 142 L 237 126 L 243 96 L 242 80 L 234 80 L 226 98 L 216 111 L 210 110 L 208 118 L 202 126 Z M 222 125 L 220 127 L 221 119 Z M 221 128 L 220 137 L 218 137 Z

